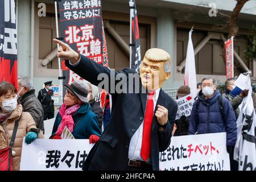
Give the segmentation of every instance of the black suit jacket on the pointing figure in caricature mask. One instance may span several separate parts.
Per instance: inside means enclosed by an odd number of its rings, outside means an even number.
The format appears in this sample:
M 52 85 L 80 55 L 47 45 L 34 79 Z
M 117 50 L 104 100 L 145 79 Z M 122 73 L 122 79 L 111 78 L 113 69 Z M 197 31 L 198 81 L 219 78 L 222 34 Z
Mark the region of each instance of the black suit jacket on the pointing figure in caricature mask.
M 110 71 L 100 64 L 81 55 L 81 61 L 73 67 L 66 60 L 66 66 L 77 73 L 85 80 L 88 80 L 94 85 L 98 85 L 101 80 L 97 80 L 100 73 L 105 73 L 108 78 L 123 73 L 128 75 L 134 73 L 131 69 L 123 69 L 122 71 Z M 128 77 L 128 76 L 127 76 Z M 110 82 L 110 81 L 109 81 Z M 117 85 L 118 81 L 114 82 Z M 125 86 L 129 86 L 128 83 Z M 135 85 L 133 83 L 133 88 Z M 104 89 L 108 92 L 110 84 L 105 85 Z M 146 109 L 147 94 L 142 93 L 143 86 L 139 80 L 139 93 L 111 93 L 112 95 L 112 115 L 109 125 L 102 134 L 100 140 L 94 145 L 89 152 L 88 158 L 85 161 L 84 170 L 129 170 L 128 151 L 131 137 L 137 131 L 144 120 Z M 164 151 L 170 145 L 171 132 L 174 127 L 177 104 L 163 90 L 160 90 L 158 101 L 156 104 L 162 105 L 168 109 L 168 123 L 164 131 L 159 131 L 157 118 L 154 115 L 151 128 L 151 160 L 153 170 L 159 170 L 159 151 Z M 156 111 L 155 109 L 155 111 Z

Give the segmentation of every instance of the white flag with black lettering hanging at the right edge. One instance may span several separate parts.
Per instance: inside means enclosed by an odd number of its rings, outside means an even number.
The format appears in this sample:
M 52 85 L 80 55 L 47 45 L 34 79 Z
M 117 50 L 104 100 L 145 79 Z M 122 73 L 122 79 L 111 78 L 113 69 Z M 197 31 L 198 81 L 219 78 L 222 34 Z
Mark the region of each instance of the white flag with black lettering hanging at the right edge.
M 243 99 L 242 109 L 237 119 L 237 143 L 234 149 L 234 160 L 238 161 L 240 171 L 256 170 L 256 115 L 251 93 L 250 75 L 245 80 L 248 96 Z

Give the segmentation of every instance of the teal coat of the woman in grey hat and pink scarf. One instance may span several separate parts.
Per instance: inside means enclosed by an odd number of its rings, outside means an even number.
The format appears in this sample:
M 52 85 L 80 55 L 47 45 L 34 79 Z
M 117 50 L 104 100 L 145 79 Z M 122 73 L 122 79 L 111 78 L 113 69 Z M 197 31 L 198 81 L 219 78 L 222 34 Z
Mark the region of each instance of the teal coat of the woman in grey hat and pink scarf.
M 82 104 L 79 110 L 72 115 L 72 118 L 75 124 L 72 135 L 75 139 L 89 139 L 90 135 L 101 136 L 97 115 L 93 113 L 89 103 Z M 53 125 L 52 136 L 55 135 L 60 122 L 61 116 L 60 113 L 58 113 Z

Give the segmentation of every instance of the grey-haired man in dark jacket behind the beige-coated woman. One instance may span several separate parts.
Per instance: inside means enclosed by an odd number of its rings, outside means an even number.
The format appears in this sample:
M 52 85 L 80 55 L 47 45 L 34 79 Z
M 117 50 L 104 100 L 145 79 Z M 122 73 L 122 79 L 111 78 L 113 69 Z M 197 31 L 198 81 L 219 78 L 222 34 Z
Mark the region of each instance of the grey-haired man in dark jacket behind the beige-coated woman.
M 35 96 L 32 81 L 28 77 L 18 78 L 18 100 L 23 106 L 23 111 L 32 115 L 36 127 L 44 133 L 44 110 L 42 104 Z

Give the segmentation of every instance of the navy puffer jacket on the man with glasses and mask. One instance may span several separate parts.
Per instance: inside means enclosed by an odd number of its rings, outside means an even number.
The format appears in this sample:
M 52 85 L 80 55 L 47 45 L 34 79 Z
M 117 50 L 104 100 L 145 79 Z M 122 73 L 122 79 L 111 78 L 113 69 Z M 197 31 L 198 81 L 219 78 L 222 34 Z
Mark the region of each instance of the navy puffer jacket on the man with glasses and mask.
M 226 144 L 234 146 L 237 140 L 236 115 L 230 102 L 222 97 L 224 107 L 224 120 L 220 106 L 218 105 L 218 96 L 220 92 L 216 90 L 213 98 L 205 99 L 202 91 L 199 92 L 200 105 L 198 107 L 198 122 L 196 122 L 196 102 L 193 104 L 188 133 L 207 134 L 226 132 Z

